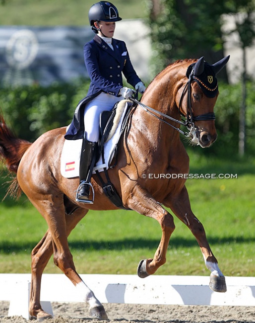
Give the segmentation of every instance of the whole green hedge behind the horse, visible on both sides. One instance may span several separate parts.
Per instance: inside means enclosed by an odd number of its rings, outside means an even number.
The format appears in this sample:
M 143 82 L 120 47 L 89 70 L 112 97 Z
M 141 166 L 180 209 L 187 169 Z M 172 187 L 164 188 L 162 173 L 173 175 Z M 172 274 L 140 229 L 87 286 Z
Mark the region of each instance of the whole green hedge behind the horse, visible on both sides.
M 9 125 L 20 138 L 34 141 L 44 132 L 67 125 L 77 103 L 86 95 L 89 81 L 71 84 L 0 88 L 0 108 Z M 228 156 L 238 154 L 239 107 L 242 99 L 240 84 L 220 84 L 215 106 L 217 142 L 202 154 Z M 255 150 L 255 84 L 248 83 L 247 153 Z

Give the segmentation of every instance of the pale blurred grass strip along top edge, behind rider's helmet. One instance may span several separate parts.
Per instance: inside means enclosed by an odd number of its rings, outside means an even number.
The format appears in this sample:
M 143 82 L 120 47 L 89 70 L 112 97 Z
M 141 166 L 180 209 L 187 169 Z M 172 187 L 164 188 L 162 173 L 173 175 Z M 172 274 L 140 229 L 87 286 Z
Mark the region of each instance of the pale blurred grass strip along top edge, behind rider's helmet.
M 88 25 L 88 10 L 95 0 L 5 0 L 0 4 L 1 25 L 84 26 Z M 144 18 L 146 0 L 115 0 L 124 19 Z M 1 2 L 0 2 L 1 3 Z

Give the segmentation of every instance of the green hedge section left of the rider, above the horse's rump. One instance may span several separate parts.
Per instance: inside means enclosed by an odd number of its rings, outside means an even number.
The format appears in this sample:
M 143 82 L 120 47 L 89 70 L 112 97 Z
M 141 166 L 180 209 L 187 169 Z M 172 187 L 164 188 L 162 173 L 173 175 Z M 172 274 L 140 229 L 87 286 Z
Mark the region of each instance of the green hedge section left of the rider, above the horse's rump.
M 34 141 L 48 130 L 68 125 L 89 82 L 0 88 L 0 109 L 15 134 Z

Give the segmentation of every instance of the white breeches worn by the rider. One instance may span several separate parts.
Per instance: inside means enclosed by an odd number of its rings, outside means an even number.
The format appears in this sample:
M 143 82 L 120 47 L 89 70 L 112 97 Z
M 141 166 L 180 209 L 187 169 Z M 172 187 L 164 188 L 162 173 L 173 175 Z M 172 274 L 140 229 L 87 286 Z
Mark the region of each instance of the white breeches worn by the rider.
M 98 142 L 99 140 L 99 117 L 101 112 L 110 111 L 116 102 L 123 97 L 117 97 L 107 93 L 100 93 L 86 104 L 84 110 L 84 131 L 87 133 L 87 140 Z

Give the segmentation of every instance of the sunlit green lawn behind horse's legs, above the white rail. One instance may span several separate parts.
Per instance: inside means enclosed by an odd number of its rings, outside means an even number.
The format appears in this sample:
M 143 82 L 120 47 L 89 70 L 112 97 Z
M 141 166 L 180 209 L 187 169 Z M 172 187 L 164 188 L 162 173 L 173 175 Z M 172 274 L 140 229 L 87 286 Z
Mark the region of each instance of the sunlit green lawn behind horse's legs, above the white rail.
M 222 161 L 191 153 L 191 173 L 237 173 L 234 179 L 188 179 L 194 214 L 227 276 L 254 276 L 253 227 L 255 161 Z M 3 191 L 1 191 L 3 195 Z M 0 204 L 0 272 L 30 272 L 30 252 L 47 230 L 44 219 L 23 196 Z M 209 275 L 189 229 L 175 218 L 167 262 L 157 274 Z M 135 274 L 140 259 L 152 257 L 159 224 L 132 211 L 90 211 L 69 237 L 79 273 Z M 238 261 L 237 261 L 238 259 Z M 60 273 L 53 264 L 45 272 Z

